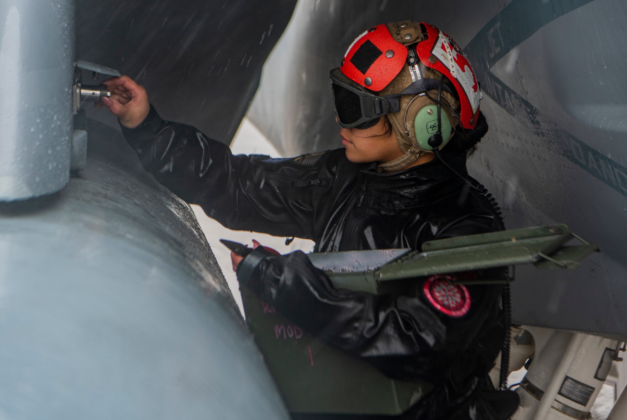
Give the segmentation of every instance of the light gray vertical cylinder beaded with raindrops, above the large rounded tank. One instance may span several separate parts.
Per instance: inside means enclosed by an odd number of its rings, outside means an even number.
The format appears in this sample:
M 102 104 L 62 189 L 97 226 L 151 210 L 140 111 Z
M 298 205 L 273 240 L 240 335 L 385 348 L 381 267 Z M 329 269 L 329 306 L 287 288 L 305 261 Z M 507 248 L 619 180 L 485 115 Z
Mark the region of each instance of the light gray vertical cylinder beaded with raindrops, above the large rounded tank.
M 70 177 L 74 1 L 0 0 L 0 201 Z

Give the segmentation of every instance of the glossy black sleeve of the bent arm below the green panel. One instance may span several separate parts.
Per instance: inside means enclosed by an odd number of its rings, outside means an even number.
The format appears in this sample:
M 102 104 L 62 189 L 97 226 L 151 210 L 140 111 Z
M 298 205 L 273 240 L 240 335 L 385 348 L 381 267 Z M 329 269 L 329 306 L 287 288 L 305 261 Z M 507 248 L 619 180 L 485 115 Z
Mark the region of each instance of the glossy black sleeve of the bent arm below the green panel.
M 243 283 L 307 332 L 390 377 L 443 382 L 460 364 L 464 372 L 480 364 L 480 369 L 489 370 L 498 352 L 498 335 L 495 351 L 495 345 L 477 338 L 488 335 L 497 322 L 500 286 L 468 286 L 470 310 L 452 318 L 424 298 L 423 284 L 416 280 L 403 295 L 335 289 L 300 251 L 268 256 Z M 491 350 L 479 351 L 477 345 Z

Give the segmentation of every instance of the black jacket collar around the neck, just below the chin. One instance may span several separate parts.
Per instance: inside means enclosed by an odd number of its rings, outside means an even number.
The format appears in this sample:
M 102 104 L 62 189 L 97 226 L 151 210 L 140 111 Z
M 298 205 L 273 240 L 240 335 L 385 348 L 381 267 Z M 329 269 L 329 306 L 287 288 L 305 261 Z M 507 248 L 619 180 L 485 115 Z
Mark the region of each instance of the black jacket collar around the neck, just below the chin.
M 461 176 L 468 176 L 465 155 L 443 157 Z M 363 183 L 366 201 L 374 207 L 407 209 L 428 206 L 455 194 L 464 185 L 464 181 L 437 158 L 392 174 L 381 174 L 376 167 L 376 163 L 369 164 L 361 171 L 359 180 Z

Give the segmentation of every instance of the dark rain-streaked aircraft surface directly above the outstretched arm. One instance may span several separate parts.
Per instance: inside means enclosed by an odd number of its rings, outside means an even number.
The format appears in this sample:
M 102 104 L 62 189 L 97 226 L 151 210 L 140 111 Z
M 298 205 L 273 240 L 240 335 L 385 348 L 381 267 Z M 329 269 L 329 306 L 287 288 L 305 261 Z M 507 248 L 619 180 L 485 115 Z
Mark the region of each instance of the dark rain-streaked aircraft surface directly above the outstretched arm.
M 164 118 L 228 144 L 295 4 L 77 0 L 76 56 L 134 78 Z

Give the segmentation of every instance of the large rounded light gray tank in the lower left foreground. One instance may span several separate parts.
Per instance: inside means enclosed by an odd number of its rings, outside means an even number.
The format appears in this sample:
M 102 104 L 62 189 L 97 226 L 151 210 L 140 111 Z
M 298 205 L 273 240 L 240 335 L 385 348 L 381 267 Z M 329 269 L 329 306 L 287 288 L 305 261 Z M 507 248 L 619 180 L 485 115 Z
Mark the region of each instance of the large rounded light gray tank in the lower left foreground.
M 287 419 L 187 205 L 89 135 L 67 187 L 0 204 L 0 418 Z

